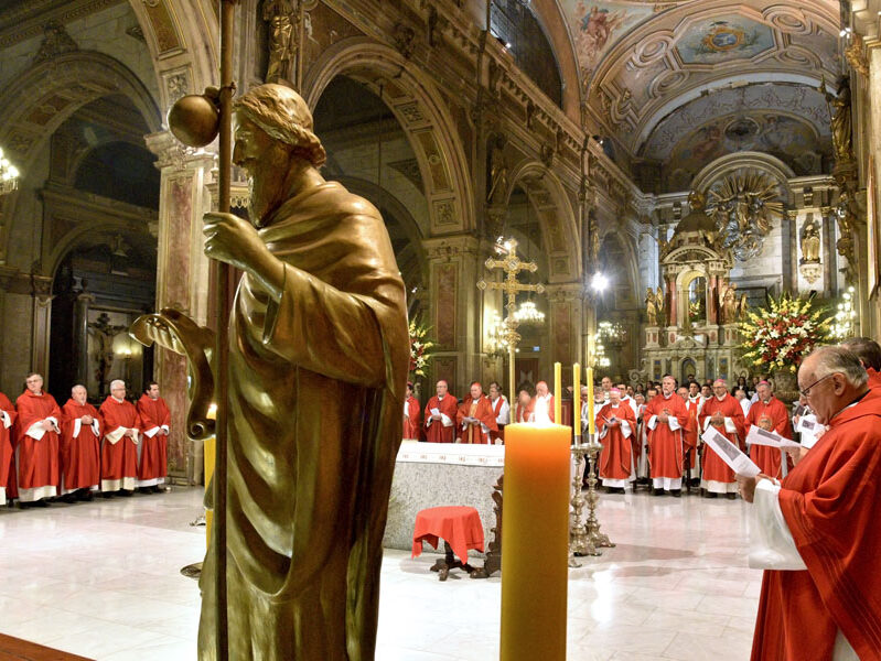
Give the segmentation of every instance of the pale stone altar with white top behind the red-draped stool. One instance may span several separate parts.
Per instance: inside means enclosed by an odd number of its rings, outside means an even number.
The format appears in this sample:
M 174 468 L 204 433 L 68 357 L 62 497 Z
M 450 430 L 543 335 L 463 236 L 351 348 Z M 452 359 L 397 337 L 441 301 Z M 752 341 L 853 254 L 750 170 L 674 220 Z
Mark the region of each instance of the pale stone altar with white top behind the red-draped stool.
M 504 467 L 504 445 L 405 441 L 395 465 L 383 545 L 409 551 L 417 512 L 454 505 L 476 508 L 483 523 L 484 544 L 488 544 L 493 539 L 491 529 L 495 527 L 493 487 Z M 471 554 L 481 555 L 476 551 Z

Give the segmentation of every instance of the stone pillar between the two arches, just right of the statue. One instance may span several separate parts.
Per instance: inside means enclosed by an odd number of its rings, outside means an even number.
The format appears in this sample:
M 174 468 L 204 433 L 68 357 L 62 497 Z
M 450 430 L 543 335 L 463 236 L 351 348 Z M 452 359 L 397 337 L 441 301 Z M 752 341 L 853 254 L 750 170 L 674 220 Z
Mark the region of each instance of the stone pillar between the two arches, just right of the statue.
M 461 397 L 482 375 L 482 297 L 476 284 L 487 274 L 480 263 L 480 243 L 471 235 L 455 235 L 426 239 L 422 247 L 429 262 L 431 292 L 426 322 L 436 344 L 426 394 L 434 392 L 434 381 L 447 379 L 450 392 Z M 502 376 L 496 379 L 502 381 Z

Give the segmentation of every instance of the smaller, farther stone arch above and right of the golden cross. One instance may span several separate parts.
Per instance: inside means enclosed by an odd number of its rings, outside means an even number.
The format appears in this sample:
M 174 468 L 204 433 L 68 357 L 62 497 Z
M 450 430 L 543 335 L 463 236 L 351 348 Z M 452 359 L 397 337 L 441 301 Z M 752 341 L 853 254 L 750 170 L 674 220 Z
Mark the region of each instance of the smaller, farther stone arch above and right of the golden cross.
M 548 282 L 580 281 L 581 242 L 574 210 L 559 177 L 538 161 L 524 161 L 512 171 L 505 206 L 516 186 L 526 192 L 540 218 L 548 258 Z

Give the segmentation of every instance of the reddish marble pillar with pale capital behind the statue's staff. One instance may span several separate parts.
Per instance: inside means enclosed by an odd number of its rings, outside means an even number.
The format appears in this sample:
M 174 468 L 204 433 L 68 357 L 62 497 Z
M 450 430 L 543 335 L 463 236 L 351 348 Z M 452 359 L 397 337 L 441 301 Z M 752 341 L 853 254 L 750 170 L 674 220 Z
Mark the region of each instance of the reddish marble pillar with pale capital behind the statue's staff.
M 146 137 L 162 173 L 157 248 L 157 310 L 173 307 L 204 325 L 207 297 L 207 258 L 202 252 L 202 215 L 211 207 L 206 186 L 214 154 L 184 148 L 168 131 Z M 171 410 L 169 473 L 186 472 L 186 359 L 157 348 L 153 378 Z

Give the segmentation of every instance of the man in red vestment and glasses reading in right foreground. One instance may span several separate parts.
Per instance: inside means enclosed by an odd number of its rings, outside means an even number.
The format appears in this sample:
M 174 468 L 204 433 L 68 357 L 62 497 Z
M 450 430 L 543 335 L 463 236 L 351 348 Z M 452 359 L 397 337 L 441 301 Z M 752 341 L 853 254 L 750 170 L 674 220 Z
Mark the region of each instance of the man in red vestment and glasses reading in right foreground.
M 764 568 L 753 661 L 881 661 L 881 391 L 859 358 L 821 347 L 798 388 L 829 430 L 781 484 L 740 477 L 750 566 Z

